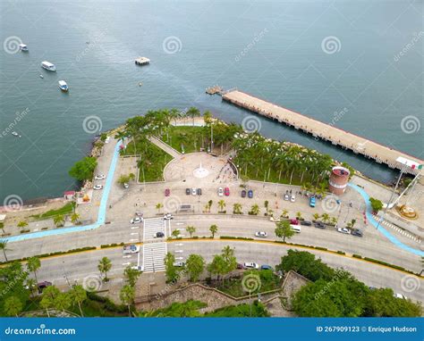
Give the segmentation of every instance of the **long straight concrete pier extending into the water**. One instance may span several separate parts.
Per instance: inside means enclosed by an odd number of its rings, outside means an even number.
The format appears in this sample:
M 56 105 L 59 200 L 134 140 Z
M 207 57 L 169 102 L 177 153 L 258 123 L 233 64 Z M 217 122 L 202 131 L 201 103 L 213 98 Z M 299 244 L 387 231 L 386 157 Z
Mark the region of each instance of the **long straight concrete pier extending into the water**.
M 321 121 L 311 119 L 298 112 L 285 109 L 282 106 L 269 103 L 254 96 L 250 96 L 242 91 L 234 90 L 223 94 L 223 99 L 234 105 L 258 113 L 268 119 L 285 123 L 286 125 L 299 129 L 313 137 L 328 141 L 335 146 L 352 150 L 355 154 L 362 154 L 377 163 L 385 163 L 393 169 L 403 169 L 405 172 L 422 176 L 423 170 L 405 167 L 403 163 L 396 161 L 399 157 L 411 160 L 418 164 L 424 162 L 414 156 L 405 154 L 395 149 L 383 146 L 365 137 L 359 137 L 343 129 L 334 127 Z M 422 177 L 421 177 L 422 179 Z

